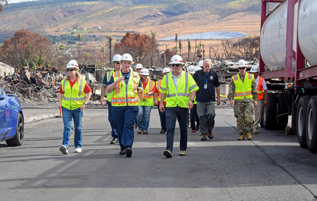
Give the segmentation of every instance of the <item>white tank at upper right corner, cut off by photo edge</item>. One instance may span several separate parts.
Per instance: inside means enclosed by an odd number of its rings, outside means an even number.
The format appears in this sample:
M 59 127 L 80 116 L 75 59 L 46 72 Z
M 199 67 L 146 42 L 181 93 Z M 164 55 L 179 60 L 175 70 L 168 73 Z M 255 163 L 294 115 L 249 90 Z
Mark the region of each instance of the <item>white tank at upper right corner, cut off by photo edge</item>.
M 317 63 L 317 1 L 302 0 L 298 16 L 298 43 L 311 65 Z

